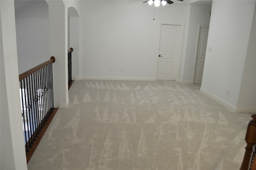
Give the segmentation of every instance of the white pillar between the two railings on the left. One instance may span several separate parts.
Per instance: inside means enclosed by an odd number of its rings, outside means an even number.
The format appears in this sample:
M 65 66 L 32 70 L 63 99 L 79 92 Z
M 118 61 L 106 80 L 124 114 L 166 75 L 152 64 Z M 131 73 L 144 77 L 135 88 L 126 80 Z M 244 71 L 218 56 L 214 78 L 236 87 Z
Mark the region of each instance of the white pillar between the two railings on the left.
M 68 99 L 68 13 L 62 1 L 46 1 L 49 6 L 49 46 L 53 63 L 54 107 L 67 107 Z

